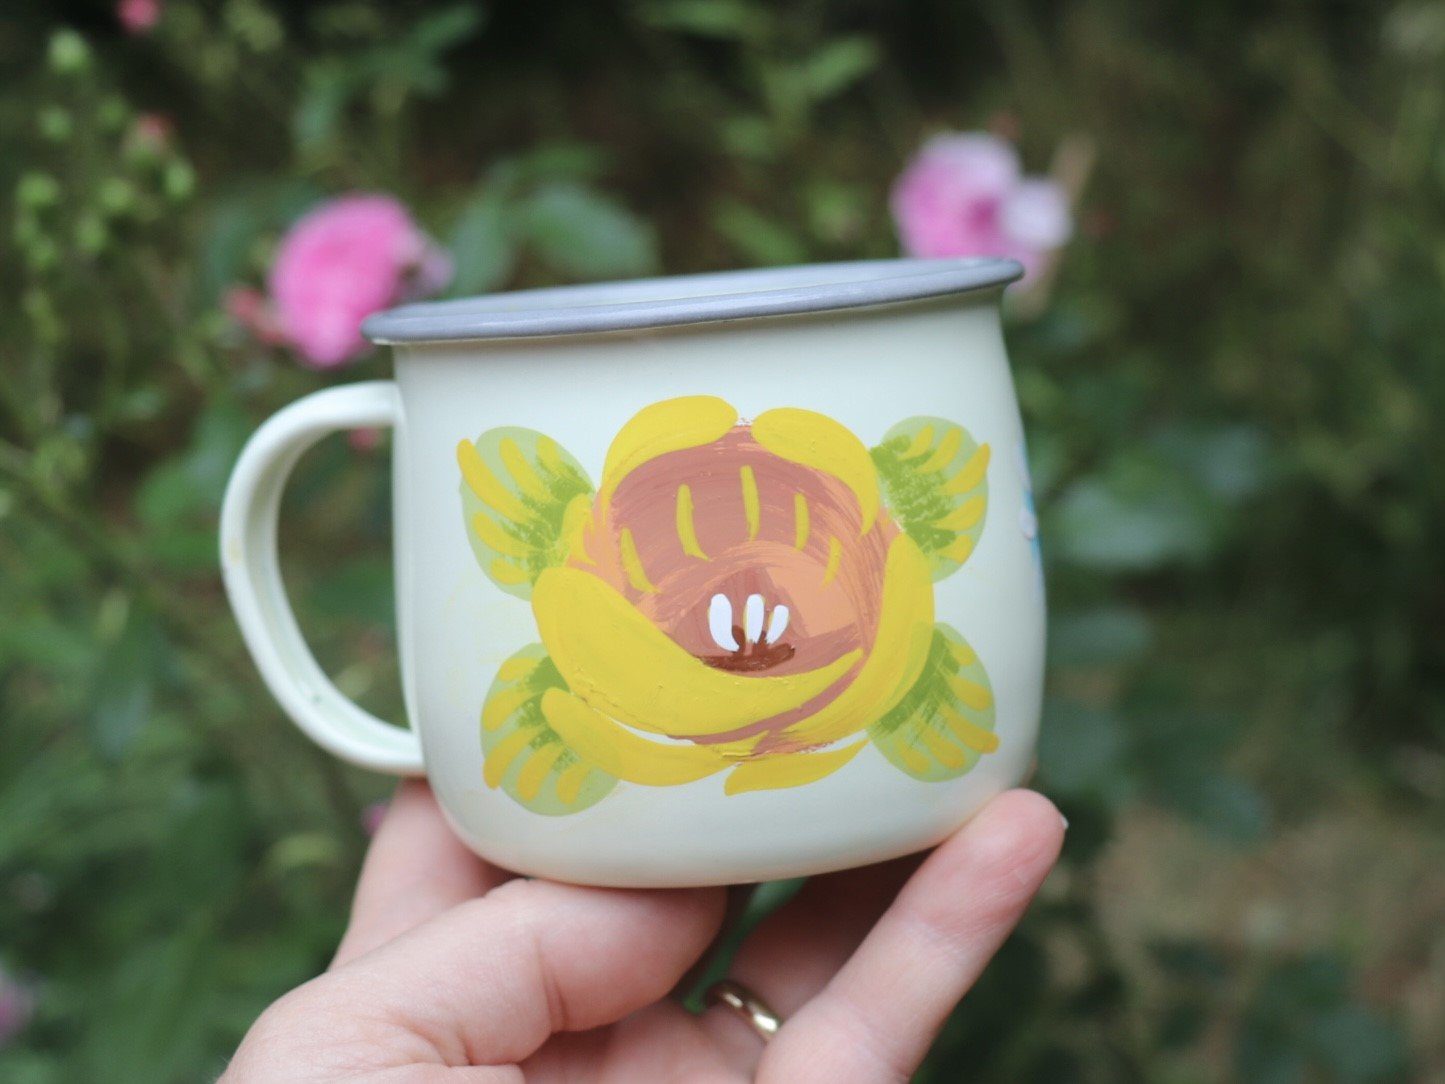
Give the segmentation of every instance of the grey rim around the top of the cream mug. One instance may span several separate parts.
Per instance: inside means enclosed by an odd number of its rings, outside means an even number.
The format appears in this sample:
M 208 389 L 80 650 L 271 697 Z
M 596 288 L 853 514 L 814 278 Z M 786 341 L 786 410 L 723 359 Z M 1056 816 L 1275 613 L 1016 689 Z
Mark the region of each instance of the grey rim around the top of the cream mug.
M 400 305 L 368 317 L 361 332 L 394 344 L 634 331 L 923 301 L 1003 288 L 1022 275 L 1017 260 L 996 257 L 704 272 Z

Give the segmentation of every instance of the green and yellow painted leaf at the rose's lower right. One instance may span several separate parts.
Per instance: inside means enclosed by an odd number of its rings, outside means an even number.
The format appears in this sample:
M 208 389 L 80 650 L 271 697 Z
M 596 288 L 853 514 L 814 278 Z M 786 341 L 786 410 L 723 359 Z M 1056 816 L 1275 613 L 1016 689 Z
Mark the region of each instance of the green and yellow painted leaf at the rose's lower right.
M 997 749 L 993 687 L 968 642 L 935 624 L 923 674 L 868 734 L 883 756 L 925 782 L 957 779 Z

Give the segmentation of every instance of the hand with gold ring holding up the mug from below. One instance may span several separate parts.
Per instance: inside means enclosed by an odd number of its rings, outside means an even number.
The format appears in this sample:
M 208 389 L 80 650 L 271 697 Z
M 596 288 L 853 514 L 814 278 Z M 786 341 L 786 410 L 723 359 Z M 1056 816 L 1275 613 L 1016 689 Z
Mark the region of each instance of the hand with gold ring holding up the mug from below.
M 223 1080 L 906 1081 L 1062 838 L 1048 799 L 1012 791 L 926 860 L 809 880 L 733 964 L 785 1020 L 764 1046 L 727 1007 L 669 1000 L 724 889 L 516 879 L 406 783 L 331 970 L 262 1015 Z

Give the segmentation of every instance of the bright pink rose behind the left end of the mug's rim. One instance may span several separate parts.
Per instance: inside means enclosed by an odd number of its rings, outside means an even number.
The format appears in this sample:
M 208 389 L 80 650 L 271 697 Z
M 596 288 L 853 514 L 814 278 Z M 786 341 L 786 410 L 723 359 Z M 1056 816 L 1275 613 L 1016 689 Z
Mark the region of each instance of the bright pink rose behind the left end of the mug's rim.
M 280 335 L 318 369 L 364 353 L 361 321 L 435 293 L 452 264 L 384 195 L 345 195 L 303 215 L 280 241 L 269 291 Z

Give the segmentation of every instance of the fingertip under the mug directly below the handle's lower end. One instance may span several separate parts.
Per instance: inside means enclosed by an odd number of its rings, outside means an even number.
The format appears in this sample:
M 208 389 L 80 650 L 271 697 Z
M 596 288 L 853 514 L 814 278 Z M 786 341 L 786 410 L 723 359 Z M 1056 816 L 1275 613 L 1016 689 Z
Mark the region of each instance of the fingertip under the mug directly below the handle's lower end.
M 331 965 L 355 960 L 504 879 L 452 834 L 426 783 L 402 783 L 367 851 L 351 922 Z

